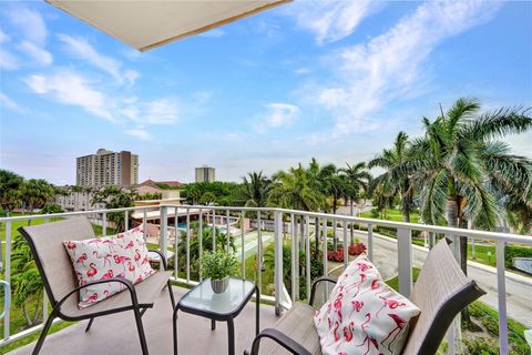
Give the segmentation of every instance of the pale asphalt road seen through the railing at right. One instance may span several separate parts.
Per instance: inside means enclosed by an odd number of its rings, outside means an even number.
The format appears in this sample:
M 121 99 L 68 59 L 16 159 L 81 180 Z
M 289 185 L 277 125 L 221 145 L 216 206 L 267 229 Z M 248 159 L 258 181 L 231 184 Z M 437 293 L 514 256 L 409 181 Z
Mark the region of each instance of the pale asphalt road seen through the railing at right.
M 341 232 L 339 231 L 339 237 Z M 355 235 L 367 243 L 364 232 L 355 231 Z M 366 244 L 367 245 L 367 244 Z M 412 263 L 421 267 L 428 251 L 413 248 Z M 379 267 L 382 277 L 388 278 L 397 274 L 397 242 L 381 237 L 374 233 L 374 261 Z M 507 272 L 508 274 L 508 272 Z M 494 310 L 498 310 L 497 273 L 489 267 L 468 265 L 468 276 L 485 290 L 487 295 L 480 298 Z M 519 280 L 507 276 L 507 310 L 508 316 L 532 328 L 532 277 L 521 276 Z

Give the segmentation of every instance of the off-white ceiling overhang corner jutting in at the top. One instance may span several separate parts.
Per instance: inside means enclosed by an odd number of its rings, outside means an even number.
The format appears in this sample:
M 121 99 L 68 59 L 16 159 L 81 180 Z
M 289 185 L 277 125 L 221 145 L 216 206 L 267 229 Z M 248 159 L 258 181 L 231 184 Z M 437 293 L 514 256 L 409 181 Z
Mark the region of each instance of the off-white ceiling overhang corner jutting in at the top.
M 146 51 L 291 0 L 47 0 L 115 39 Z

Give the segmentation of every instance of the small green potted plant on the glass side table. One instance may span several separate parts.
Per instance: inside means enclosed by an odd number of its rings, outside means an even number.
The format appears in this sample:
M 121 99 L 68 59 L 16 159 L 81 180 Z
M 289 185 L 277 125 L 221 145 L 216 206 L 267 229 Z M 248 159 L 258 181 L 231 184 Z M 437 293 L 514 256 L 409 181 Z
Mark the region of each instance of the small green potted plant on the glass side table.
M 229 276 L 238 270 L 236 258 L 223 250 L 205 252 L 202 256 L 203 277 L 211 278 L 214 293 L 224 293 L 229 285 Z

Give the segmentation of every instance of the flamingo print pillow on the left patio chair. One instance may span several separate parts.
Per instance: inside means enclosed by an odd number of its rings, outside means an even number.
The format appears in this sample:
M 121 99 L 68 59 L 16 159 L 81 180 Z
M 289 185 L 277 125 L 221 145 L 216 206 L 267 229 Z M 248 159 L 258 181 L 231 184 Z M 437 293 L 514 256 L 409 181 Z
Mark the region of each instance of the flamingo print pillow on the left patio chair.
M 150 265 L 143 233 L 136 227 L 109 237 L 65 241 L 80 286 L 90 281 L 122 277 L 139 283 L 155 271 Z M 80 308 L 103 301 L 125 286 L 117 282 L 91 285 L 80 290 Z

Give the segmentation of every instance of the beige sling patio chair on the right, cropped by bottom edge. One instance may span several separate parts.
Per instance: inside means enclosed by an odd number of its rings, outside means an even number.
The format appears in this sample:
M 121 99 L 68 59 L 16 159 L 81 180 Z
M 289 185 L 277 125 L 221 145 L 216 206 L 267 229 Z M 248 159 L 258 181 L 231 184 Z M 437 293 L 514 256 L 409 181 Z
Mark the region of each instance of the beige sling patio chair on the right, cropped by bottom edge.
M 252 355 L 321 354 L 319 337 L 314 326 L 313 308 L 316 287 L 321 282 L 336 283 L 320 277 L 313 284 L 309 305 L 297 303 L 272 328 L 258 334 Z M 462 273 L 446 241 L 440 241 L 427 256 L 409 300 L 421 314 L 411 324 L 402 354 L 436 354 L 452 320 L 471 302 L 484 295 L 474 281 Z M 270 341 L 260 344 L 264 338 Z

